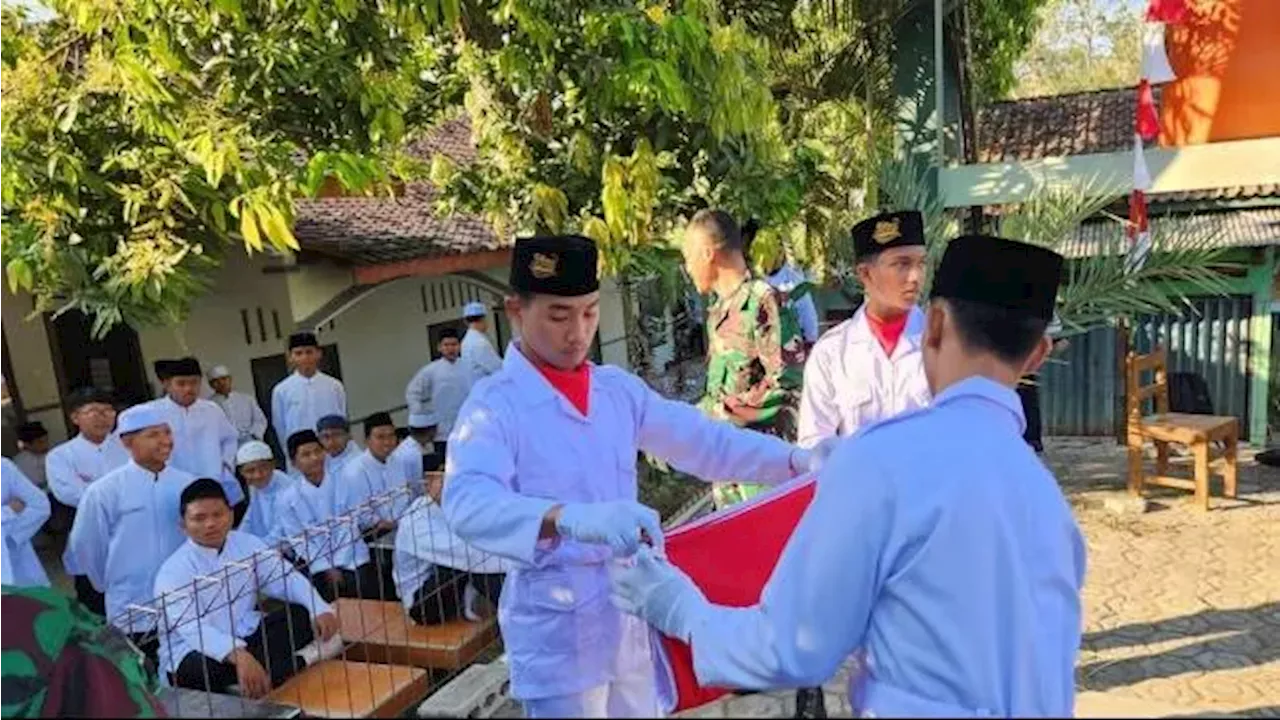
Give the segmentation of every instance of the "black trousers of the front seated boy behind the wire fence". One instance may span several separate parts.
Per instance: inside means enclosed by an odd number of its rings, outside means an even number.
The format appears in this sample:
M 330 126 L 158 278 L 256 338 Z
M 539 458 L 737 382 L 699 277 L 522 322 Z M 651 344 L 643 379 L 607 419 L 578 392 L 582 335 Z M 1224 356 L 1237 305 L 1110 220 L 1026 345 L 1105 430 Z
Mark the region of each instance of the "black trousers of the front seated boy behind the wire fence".
M 262 664 L 271 676 L 271 687 L 278 688 L 306 665 L 297 651 L 314 639 L 311 616 L 301 605 L 291 603 L 262 618 L 259 629 L 243 639 L 244 650 Z M 178 664 L 178 671 L 169 674 L 169 682 L 179 688 L 225 693 L 239 680 L 236 665 L 193 650 Z

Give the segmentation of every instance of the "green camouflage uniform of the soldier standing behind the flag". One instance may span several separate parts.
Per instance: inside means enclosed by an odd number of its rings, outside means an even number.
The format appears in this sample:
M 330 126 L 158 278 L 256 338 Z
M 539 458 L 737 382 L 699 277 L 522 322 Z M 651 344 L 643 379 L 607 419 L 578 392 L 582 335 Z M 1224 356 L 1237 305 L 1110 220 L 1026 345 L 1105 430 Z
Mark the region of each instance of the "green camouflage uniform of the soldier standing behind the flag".
M 794 442 L 805 348 L 795 313 L 778 291 L 748 278 L 708 310 L 707 333 L 707 395 L 698 406 L 713 418 Z M 718 484 L 716 506 L 740 502 L 760 489 Z

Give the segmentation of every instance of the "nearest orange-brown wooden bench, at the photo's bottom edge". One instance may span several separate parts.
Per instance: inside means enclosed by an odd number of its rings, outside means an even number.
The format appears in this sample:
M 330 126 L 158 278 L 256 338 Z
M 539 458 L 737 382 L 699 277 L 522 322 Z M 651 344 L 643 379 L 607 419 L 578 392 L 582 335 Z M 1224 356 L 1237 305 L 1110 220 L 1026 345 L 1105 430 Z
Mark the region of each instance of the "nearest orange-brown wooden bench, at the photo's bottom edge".
M 426 670 L 325 660 L 266 696 L 308 717 L 399 717 L 426 697 Z

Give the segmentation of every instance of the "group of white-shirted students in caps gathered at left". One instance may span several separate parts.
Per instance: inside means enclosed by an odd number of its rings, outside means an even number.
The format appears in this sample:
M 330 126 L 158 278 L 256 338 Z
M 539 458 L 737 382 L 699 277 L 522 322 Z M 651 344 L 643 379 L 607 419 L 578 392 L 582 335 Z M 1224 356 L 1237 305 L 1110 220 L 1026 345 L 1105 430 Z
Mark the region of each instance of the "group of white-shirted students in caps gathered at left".
M 288 471 L 261 430 L 246 436 L 198 397 L 193 357 L 157 361 L 164 395 L 119 414 L 102 392 L 74 392 L 77 434 L 42 457 L 50 493 L 74 512 L 63 564 L 77 598 L 179 687 L 265 694 L 332 652 L 338 597 L 399 598 L 424 624 L 479 620 L 499 598 L 506 565 L 448 532 L 426 479 L 443 465 L 439 423 L 413 413 L 401 437 L 375 413 L 360 448 L 315 336 L 292 336 L 289 355 L 296 372 L 273 392 Z M 210 379 L 234 397 L 224 369 Z M 47 585 L 31 541 L 49 497 L 0 459 L 0 584 Z M 283 607 L 261 612 L 259 593 Z

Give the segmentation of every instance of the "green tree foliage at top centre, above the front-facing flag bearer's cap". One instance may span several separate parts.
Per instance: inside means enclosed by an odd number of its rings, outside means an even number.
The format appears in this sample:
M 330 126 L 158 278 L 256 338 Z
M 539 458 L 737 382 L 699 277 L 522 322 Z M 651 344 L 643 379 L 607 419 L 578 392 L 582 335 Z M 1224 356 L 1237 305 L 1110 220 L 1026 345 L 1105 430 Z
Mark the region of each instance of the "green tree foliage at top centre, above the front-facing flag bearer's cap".
M 800 208 L 767 47 L 710 3 L 503 0 L 435 44 L 442 113 L 470 114 L 479 161 L 439 159 L 443 211 L 499 234 L 579 231 L 607 274 L 648 274 L 698 208 L 767 223 Z M 566 28 L 573 28 L 567 31 Z

